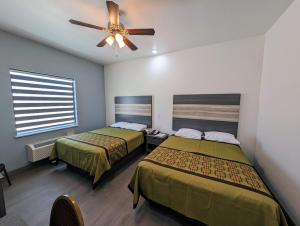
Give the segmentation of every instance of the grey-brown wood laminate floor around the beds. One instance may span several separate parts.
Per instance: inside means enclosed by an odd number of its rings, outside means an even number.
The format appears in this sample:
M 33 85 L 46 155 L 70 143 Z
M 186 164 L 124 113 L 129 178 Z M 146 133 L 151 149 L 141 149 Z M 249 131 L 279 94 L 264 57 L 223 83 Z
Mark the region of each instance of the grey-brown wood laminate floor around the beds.
M 86 226 L 201 225 L 143 198 L 132 209 L 132 194 L 127 185 L 141 158 L 122 165 L 95 190 L 87 177 L 67 169 L 63 163 L 27 169 L 12 178 L 11 187 L 4 186 L 7 214 L 21 217 L 29 226 L 46 226 L 55 198 L 71 194 L 79 203 Z

